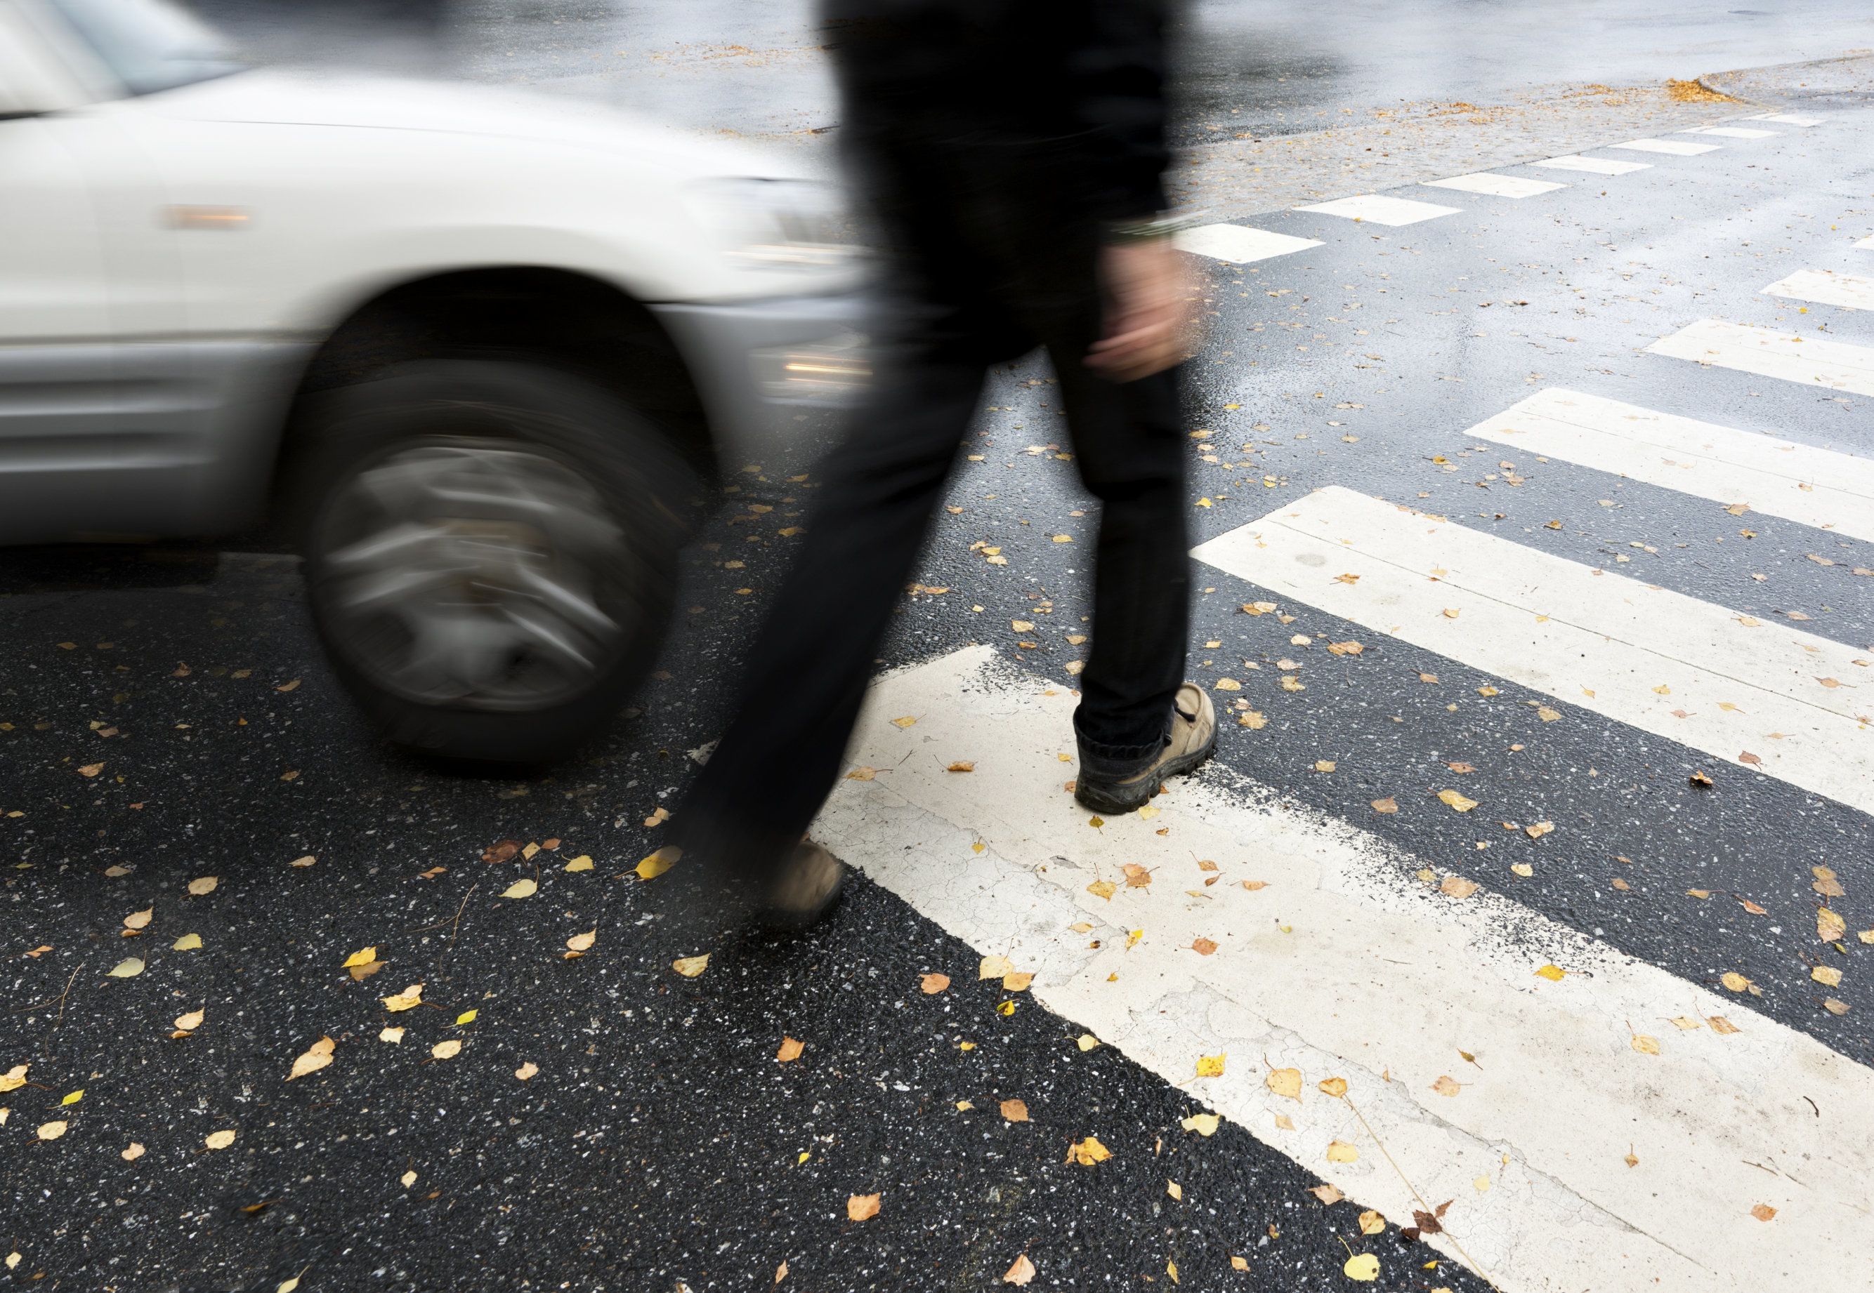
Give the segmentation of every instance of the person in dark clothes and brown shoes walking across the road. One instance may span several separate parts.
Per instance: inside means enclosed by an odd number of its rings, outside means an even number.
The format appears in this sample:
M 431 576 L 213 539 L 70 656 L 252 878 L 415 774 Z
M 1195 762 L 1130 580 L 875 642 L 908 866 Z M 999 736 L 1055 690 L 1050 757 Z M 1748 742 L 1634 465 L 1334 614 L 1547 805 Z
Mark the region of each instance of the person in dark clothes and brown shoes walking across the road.
M 1216 744 L 1184 682 L 1190 570 L 1169 234 L 1168 0 L 828 0 L 847 161 L 886 268 L 875 384 L 821 465 L 798 564 L 740 708 L 673 819 L 776 924 L 832 907 L 804 832 L 832 789 L 892 607 L 986 369 L 1044 347 L 1100 500 L 1076 796 L 1143 806 Z

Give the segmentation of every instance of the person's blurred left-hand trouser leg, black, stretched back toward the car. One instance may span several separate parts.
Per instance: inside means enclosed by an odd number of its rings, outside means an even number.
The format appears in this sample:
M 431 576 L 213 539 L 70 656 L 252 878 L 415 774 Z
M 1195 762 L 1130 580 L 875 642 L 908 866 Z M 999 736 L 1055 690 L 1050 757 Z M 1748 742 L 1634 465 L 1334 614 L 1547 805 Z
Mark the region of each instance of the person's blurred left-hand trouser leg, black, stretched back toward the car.
M 750 881 L 757 898 L 840 776 L 873 656 L 969 427 L 986 365 L 952 350 L 913 347 L 823 463 L 738 714 L 673 821 L 686 855 Z

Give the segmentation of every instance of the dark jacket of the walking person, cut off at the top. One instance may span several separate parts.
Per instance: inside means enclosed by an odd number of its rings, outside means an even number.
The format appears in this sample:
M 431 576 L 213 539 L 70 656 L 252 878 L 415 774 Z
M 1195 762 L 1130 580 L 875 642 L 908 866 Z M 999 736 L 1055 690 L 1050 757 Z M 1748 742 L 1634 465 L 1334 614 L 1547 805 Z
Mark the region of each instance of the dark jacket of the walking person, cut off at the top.
M 1091 219 L 1166 206 L 1175 0 L 823 0 L 840 129 L 886 186 L 930 167 Z

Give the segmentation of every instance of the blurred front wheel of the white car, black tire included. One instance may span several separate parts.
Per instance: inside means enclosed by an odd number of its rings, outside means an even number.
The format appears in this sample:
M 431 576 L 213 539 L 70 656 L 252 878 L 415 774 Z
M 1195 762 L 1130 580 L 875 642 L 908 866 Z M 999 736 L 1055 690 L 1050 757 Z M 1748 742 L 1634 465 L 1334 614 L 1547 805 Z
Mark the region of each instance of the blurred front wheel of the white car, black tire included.
M 412 751 L 540 765 L 602 731 L 671 620 L 693 485 L 583 377 L 429 360 L 313 399 L 300 553 L 332 667 Z

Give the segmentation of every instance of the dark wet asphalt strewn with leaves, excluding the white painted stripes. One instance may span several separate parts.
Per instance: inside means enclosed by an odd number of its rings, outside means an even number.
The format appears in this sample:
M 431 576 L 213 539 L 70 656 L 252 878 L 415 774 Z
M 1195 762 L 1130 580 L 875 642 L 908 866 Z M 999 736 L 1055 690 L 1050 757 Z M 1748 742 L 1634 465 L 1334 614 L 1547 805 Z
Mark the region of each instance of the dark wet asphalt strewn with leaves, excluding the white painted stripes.
M 1216 504 L 1194 508 L 1194 540 L 1349 485 L 1595 566 L 1630 555 L 1621 573 L 1765 620 L 1801 611 L 1807 632 L 1874 654 L 1874 581 L 1850 573 L 1874 568 L 1874 545 L 1773 517 L 1743 538 L 1717 504 L 1462 437 L 1569 386 L 1874 452 L 1867 397 L 1640 352 L 1707 315 L 1874 345 L 1865 315 L 1758 296 L 1795 268 L 1846 266 L 1868 232 L 1874 167 L 1857 141 L 1874 116 L 1850 99 L 1788 101 L 1840 120 L 1632 176 L 1563 176 L 1572 187 L 1524 202 L 1406 193 L 1465 208 L 1420 227 L 1257 219 L 1329 245 L 1199 266 L 1214 317 L 1190 365 L 1194 412 L 1222 461 L 1194 442 L 1192 498 Z M 991 377 L 965 452 L 980 461 L 959 461 L 950 498 L 961 512 L 939 515 L 916 573 L 952 592 L 905 600 L 883 665 L 997 641 L 1046 598 L 1040 648 L 1010 652 L 1070 684 L 1081 652 L 1064 635 L 1089 603 L 1070 553 L 1087 551 L 1094 510 L 1070 465 L 1027 452 L 1072 450 L 1046 382 L 1038 364 Z M 1488 480 L 1501 459 L 1525 483 Z M 0 1250 L 21 1254 L 0 1287 L 206 1293 L 300 1276 L 300 1289 L 701 1293 L 770 1287 L 787 1263 L 783 1289 L 988 1289 L 1027 1254 L 1033 1287 L 1168 1286 L 1175 1263 L 1179 1287 L 1286 1291 L 1340 1286 L 1349 1252 L 1381 1256 L 1372 1287 L 1486 1287 L 1396 1229 L 1362 1235 L 1353 1205 L 1321 1203 L 1310 1173 L 1242 1128 L 1182 1130 L 1201 1106 L 978 984 L 971 948 L 862 879 L 826 926 L 776 941 L 714 929 L 680 869 L 632 875 L 660 841 L 645 819 L 721 727 L 785 568 L 778 530 L 811 504 L 811 476 L 787 482 L 804 459 L 757 467 L 688 555 L 686 609 L 641 712 L 519 778 L 377 744 L 319 658 L 290 558 L 7 557 L 0 1072 L 30 1072 L 0 1094 Z M 774 510 L 738 506 L 755 500 Z M 1079 542 L 1055 545 L 1059 532 Z M 984 566 L 973 542 L 1001 545 L 1008 566 Z M 1807 557 L 1823 543 L 1831 568 Z M 1263 665 L 1246 686 L 1269 723 L 1226 727 L 1224 765 L 1683 978 L 1743 973 L 1763 995 L 1739 1012 L 1874 1063 L 1874 950 L 1848 944 L 1835 961 L 1844 1016 L 1810 980 L 1837 958 L 1814 939 L 1812 866 L 1840 873 L 1850 929 L 1874 926 L 1865 815 L 1565 703 L 1542 723 L 1522 703 L 1537 693 L 1396 641 L 1282 693 L 1267 678 L 1293 633 L 1361 632 L 1295 607 L 1295 624 L 1246 617 L 1237 607 L 1269 594 L 1220 572 L 1197 583 L 1194 676 Z M 1479 697 L 1486 682 L 1501 695 Z M 1308 776 L 1316 759 L 1342 772 Z M 1555 832 L 1480 862 L 1479 828 L 1422 793 L 1458 759 L 1492 813 Z M 1694 770 L 1713 785 L 1692 787 Z M 1383 795 L 1396 815 L 1368 808 Z M 558 845 L 483 862 L 502 840 Z M 594 866 L 568 871 L 577 856 Z M 1518 860 L 1531 877 L 1509 869 Z M 191 896 L 202 877 L 217 884 Z M 498 896 L 519 879 L 538 894 Z M 587 929 L 594 946 L 568 959 Z M 189 933 L 201 948 L 178 950 Z M 705 944 L 708 973 L 669 973 Z M 343 961 L 365 946 L 384 969 L 354 980 Z M 146 969 L 109 978 L 126 956 Z M 926 973 L 952 988 L 924 995 Z M 384 1010 L 418 982 L 420 1006 Z M 1010 1016 L 995 1010 L 1004 999 Z M 202 1023 L 172 1036 L 191 1010 Z M 388 1042 L 384 1027 L 407 1031 Z M 287 1081 L 322 1036 L 330 1066 Z M 806 1044 L 798 1061 L 776 1063 L 783 1038 Z M 452 1040 L 459 1051 L 437 1057 Z M 536 1072 L 521 1079 L 523 1066 Z M 1029 1121 L 1001 1115 L 1008 1098 Z M 37 1139 L 54 1119 L 66 1134 Z M 232 1143 L 210 1149 L 223 1130 Z M 1068 1162 L 1085 1136 L 1111 1160 Z M 142 1154 L 126 1158 L 133 1143 Z M 847 1199 L 870 1194 L 879 1214 L 849 1220 Z

